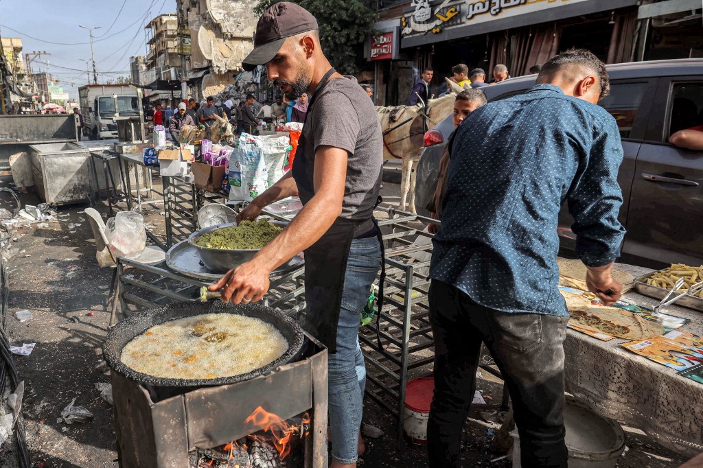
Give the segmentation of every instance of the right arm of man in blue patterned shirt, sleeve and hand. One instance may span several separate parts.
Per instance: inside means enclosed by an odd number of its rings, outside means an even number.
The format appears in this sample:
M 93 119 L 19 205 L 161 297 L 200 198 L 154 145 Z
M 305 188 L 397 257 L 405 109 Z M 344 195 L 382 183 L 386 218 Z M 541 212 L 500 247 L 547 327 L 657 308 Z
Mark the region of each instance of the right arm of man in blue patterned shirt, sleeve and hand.
M 608 119 L 604 127 L 594 136 L 591 148 L 587 148 L 586 167 L 576 172 L 567 201 L 569 213 L 574 216 L 576 256 L 588 268 L 588 289 L 610 305 L 622 291 L 610 269 L 620 255 L 625 236 L 625 228 L 618 220 L 622 190 L 617 182 L 623 152 L 614 119 Z

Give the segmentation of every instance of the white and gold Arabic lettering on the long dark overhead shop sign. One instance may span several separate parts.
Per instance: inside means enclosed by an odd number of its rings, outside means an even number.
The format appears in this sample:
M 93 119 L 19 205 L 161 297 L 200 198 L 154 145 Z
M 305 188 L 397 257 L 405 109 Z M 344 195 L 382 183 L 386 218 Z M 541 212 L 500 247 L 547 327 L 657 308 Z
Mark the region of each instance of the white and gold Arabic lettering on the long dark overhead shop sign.
M 587 0 L 444 0 L 433 7 L 430 0 L 412 0 L 413 10 L 401 18 L 401 35 L 439 34 L 447 27 L 510 18 L 581 1 Z

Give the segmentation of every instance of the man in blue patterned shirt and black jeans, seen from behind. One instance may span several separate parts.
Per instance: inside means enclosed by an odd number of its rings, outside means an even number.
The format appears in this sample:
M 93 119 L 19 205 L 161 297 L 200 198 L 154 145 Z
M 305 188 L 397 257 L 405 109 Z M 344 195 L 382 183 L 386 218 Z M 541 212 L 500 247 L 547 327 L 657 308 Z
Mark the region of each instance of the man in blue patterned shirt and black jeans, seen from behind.
M 430 268 L 432 468 L 459 466 L 481 342 L 512 398 L 522 467 L 567 467 L 557 216 L 567 201 L 588 289 L 612 304 L 625 231 L 619 131 L 596 105 L 609 89 L 605 65 L 572 49 L 545 63 L 526 93 L 484 105 L 457 129 Z

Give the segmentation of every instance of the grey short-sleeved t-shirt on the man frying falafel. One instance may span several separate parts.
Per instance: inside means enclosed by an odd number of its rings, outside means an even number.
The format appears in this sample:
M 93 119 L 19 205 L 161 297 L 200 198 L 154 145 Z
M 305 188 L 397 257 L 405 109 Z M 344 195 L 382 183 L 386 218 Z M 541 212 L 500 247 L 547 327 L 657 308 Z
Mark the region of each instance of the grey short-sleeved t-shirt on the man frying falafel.
M 303 126 L 306 169 L 310 180 L 315 149 L 320 145 L 347 150 L 344 219 L 364 221 L 373 215 L 383 164 L 383 136 L 373 101 L 354 77 L 330 79 L 316 96 Z

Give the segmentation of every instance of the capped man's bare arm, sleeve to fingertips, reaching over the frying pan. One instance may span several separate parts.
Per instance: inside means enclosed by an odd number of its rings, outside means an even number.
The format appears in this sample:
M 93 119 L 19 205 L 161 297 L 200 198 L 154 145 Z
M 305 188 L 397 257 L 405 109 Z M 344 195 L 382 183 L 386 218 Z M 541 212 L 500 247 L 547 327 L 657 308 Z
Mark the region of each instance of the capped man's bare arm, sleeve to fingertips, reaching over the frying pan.
M 318 146 L 315 151 L 315 195 L 290 224 L 252 259 L 224 275 L 210 290 L 222 291 L 222 300 L 239 304 L 259 301 L 269 290 L 271 271 L 317 242 L 342 213 L 347 179 L 347 151 Z

